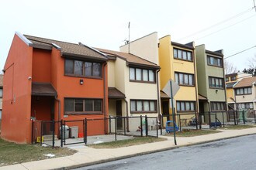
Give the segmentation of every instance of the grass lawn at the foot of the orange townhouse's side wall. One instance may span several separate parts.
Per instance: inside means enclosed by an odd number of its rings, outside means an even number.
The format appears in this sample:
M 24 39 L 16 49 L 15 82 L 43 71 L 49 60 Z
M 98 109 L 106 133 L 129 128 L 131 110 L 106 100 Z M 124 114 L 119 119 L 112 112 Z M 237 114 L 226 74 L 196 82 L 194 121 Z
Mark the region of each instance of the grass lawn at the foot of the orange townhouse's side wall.
M 47 154 L 56 157 L 73 155 L 76 151 L 68 148 L 40 147 L 40 145 L 16 144 L 0 138 L 0 167 L 22 162 L 47 159 Z

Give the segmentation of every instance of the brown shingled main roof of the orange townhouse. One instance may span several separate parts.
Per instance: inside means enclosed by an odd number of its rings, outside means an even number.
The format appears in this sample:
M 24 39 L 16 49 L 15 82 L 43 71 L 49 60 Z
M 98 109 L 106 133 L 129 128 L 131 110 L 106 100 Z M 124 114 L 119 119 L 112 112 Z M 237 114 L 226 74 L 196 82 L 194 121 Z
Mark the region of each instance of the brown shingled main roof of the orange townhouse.
M 74 44 L 71 42 L 62 42 L 54 39 L 45 39 L 36 36 L 24 35 L 26 39 L 29 39 L 33 43 L 34 48 L 40 49 L 52 49 L 53 46 L 60 47 L 62 56 L 74 56 L 86 59 L 99 59 L 107 60 L 103 53 L 91 47 L 85 46 L 82 43 Z M 57 46 L 56 46 L 57 45 Z

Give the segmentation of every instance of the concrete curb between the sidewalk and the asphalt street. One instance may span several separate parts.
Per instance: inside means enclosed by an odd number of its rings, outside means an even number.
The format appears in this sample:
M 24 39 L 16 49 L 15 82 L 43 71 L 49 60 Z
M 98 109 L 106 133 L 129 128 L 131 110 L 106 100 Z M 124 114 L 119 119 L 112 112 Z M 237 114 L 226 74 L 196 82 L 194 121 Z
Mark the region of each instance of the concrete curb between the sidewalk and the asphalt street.
M 253 133 L 253 134 L 256 134 L 256 133 Z M 169 151 L 169 150 L 172 150 L 172 149 L 175 149 L 175 148 L 206 144 L 206 143 L 210 143 L 210 142 L 213 142 L 213 141 L 223 141 L 223 140 L 230 139 L 230 138 L 238 138 L 238 137 L 248 136 L 248 135 L 252 135 L 252 134 L 240 134 L 240 135 L 237 135 L 237 136 L 232 136 L 232 137 L 227 137 L 227 138 L 213 139 L 213 140 L 209 140 L 209 141 L 199 141 L 199 142 L 195 142 L 195 143 L 187 144 L 187 145 L 179 145 L 179 146 L 173 146 L 173 147 L 168 147 L 168 148 L 161 148 L 161 149 L 157 149 L 157 150 L 154 150 L 154 151 L 144 151 L 144 152 L 140 152 L 140 153 L 137 153 L 137 154 L 120 156 L 120 157 L 116 157 L 116 158 L 102 159 L 102 160 L 99 160 L 99 161 L 96 161 L 96 162 L 84 163 L 84 164 L 79 164 L 79 165 L 71 165 L 71 166 L 68 166 L 68 167 L 54 168 L 54 170 L 67 170 L 67 169 L 73 169 L 73 168 L 81 168 L 81 167 L 84 167 L 84 166 L 90 166 L 90 165 L 102 164 L 102 163 L 106 163 L 106 162 L 118 161 L 118 160 L 121 160 L 121 159 L 124 159 L 124 158 L 132 158 L 134 156 L 147 155 L 147 154 L 152 154 L 152 153 L 156 153 L 156 152 L 160 152 L 160 151 Z

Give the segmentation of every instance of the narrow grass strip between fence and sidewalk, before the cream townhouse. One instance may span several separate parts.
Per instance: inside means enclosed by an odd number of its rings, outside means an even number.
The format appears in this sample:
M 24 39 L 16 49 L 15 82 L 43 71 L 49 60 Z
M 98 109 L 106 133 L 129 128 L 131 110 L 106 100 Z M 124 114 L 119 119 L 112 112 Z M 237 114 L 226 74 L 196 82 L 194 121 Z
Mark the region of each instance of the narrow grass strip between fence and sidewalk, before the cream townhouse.
M 146 143 L 153 143 L 157 141 L 166 141 L 165 138 L 154 138 L 154 137 L 137 137 L 133 139 L 126 139 L 122 141 L 111 141 L 101 144 L 92 144 L 88 145 L 88 147 L 92 148 L 122 148 L 132 145 L 140 145 L 140 144 L 146 144 Z

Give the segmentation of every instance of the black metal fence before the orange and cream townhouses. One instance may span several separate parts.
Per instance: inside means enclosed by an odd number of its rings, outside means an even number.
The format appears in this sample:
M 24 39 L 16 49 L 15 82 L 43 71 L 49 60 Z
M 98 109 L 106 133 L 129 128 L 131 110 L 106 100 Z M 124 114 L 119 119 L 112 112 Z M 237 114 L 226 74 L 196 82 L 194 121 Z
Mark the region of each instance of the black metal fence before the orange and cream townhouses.
M 92 135 L 114 134 L 112 141 L 119 140 L 118 135 L 151 136 L 158 138 L 159 121 L 157 117 L 107 117 L 72 121 L 33 121 L 31 143 L 52 147 L 92 143 Z M 95 128 L 96 127 L 96 128 Z

